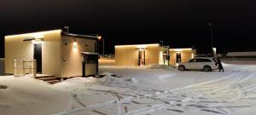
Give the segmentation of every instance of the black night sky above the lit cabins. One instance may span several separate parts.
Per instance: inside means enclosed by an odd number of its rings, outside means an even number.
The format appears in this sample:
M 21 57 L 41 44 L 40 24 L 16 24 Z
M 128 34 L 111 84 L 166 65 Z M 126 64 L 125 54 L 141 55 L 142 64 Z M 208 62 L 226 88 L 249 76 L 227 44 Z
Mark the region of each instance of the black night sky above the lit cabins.
M 69 32 L 99 33 L 106 54 L 114 44 L 194 46 L 199 53 L 256 50 L 253 0 L 1 0 L 0 57 L 4 36 L 70 26 Z

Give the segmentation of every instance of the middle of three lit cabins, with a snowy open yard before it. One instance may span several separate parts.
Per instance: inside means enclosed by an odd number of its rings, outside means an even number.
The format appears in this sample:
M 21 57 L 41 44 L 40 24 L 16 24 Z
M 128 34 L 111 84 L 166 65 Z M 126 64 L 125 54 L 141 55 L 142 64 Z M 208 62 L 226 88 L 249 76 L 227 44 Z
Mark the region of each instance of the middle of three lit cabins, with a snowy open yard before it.
M 159 43 L 116 45 L 114 49 L 116 66 L 148 66 L 163 62 Z

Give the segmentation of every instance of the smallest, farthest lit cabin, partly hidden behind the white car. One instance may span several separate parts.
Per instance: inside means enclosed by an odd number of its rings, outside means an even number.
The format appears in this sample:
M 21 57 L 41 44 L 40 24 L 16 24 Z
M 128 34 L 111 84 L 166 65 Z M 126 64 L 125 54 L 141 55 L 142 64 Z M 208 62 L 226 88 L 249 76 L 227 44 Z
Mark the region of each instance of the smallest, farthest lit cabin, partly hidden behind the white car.
M 196 55 L 195 49 L 169 49 L 170 65 L 176 66 L 177 63 L 186 62 Z

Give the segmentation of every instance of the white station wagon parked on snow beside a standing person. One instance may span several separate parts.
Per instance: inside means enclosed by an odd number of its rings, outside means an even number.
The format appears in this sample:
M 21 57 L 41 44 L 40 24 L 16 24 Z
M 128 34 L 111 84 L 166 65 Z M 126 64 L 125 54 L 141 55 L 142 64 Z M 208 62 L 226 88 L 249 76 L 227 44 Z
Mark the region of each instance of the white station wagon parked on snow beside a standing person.
M 213 58 L 196 57 L 188 62 L 178 64 L 177 69 L 179 71 L 203 70 L 205 72 L 210 72 L 218 69 L 218 64 Z

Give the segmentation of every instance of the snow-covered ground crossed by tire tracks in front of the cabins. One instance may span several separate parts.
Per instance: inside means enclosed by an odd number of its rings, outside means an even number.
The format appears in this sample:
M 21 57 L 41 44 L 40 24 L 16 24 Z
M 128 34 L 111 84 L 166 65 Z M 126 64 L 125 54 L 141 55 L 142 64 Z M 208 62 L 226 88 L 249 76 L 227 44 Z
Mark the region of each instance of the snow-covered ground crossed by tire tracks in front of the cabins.
M 0 77 L 0 114 L 255 114 L 256 65 L 224 64 L 224 69 L 102 66 L 104 78 L 72 78 L 54 85 Z

